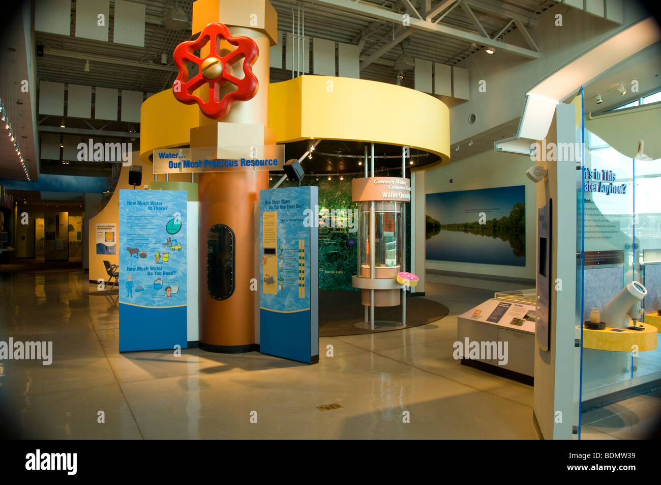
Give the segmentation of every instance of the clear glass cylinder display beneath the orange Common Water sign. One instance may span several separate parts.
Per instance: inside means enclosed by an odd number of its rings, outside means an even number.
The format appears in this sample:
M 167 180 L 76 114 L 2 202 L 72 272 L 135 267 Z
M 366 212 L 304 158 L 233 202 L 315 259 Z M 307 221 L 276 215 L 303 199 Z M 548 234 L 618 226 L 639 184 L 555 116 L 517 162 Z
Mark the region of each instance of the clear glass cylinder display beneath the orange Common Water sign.
M 370 213 L 372 202 L 360 202 L 358 275 L 371 277 Z M 403 271 L 403 202 L 374 204 L 374 277 L 397 278 Z

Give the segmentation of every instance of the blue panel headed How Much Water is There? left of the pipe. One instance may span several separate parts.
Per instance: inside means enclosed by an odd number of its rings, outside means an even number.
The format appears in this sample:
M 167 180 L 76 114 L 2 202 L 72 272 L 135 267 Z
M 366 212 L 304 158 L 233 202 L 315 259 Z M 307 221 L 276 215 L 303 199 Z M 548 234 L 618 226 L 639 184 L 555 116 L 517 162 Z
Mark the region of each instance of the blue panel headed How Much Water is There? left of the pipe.
M 187 347 L 186 198 L 120 190 L 120 352 Z

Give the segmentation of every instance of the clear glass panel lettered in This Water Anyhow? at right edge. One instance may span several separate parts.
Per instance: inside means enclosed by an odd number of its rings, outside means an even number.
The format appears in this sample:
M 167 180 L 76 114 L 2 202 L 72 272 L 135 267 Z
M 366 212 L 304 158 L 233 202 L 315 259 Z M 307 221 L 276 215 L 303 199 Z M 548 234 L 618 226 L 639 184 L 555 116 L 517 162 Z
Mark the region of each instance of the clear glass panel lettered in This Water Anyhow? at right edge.
M 644 314 L 650 319 L 661 307 L 661 163 L 631 159 L 588 130 L 585 136 L 589 142 L 579 189 L 584 201 L 579 214 L 584 218 L 584 232 L 578 240 L 584 253 L 578 271 L 582 278 L 577 278 L 582 281 L 582 312 L 577 324 L 590 321 L 591 314 L 593 319 L 600 314 L 605 328 L 597 331 L 607 333 L 603 338 L 615 345 L 617 338 L 611 335 L 640 327 Z M 609 308 L 614 308 L 615 296 L 627 285 L 631 295 L 642 296 L 642 285 L 647 294 L 642 304 L 636 298 L 618 299 L 623 302 L 623 316 L 613 318 L 605 307 L 613 302 Z M 641 307 L 644 314 L 639 312 Z M 655 349 L 623 345 L 617 351 L 606 350 L 598 348 L 602 344 L 594 339 L 587 343 L 591 330 L 581 327 L 581 331 L 581 402 L 661 377 L 658 345 Z M 642 330 L 634 333 L 642 335 Z

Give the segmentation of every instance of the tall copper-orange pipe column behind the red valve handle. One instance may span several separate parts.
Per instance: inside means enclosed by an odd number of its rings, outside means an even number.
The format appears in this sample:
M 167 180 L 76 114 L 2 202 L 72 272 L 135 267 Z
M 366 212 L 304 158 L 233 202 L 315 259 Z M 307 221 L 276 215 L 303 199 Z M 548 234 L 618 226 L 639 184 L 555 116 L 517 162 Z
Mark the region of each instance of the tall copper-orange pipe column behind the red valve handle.
M 193 33 L 200 32 L 210 22 L 221 22 L 233 36 L 248 36 L 257 43 L 259 56 L 253 64 L 253 73 L 259 87 L 253 99 L 233 103 L 227 116 L 220 121 L 200 112 L 200 126 L 191 130 L 191 148 L 217 147 L 221 152 L 223 146 L 275 144 L 275 137 L 268 129 L 268 54 L 270 46 L 276 43 L 275 10 L 268 0 L 194 2 Z M 241 64 L 237 63 L 237 70 L 240 69 Z M 208 93 L 202 98 L 206 95 Z M 253 204 L 259 200 L 262 189 L 268 189 L 268 171 L 199 174 L 201 349 L 228 353 L 256 349 L 256 292 L 251 290 L 251 279 L 258 278 L 259 272 L 254 267 L 254 241 L 258 235 L 254 234 Z M 235 235 L 235 287 L 225 300 L 215 299 L 208 291 L 205 255 L 208 254 L 208 231 L 215 224 L 225 224 Z

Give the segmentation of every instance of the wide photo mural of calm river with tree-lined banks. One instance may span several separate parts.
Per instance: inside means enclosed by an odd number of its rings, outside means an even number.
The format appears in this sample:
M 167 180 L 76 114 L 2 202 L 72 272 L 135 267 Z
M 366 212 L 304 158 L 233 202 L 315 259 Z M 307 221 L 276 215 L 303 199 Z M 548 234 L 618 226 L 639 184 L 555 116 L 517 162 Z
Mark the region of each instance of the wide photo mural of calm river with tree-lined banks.
M 525 266 L 525 186 L 426 195 L 426 259 Z

